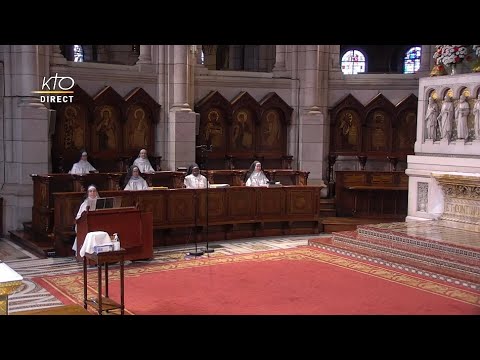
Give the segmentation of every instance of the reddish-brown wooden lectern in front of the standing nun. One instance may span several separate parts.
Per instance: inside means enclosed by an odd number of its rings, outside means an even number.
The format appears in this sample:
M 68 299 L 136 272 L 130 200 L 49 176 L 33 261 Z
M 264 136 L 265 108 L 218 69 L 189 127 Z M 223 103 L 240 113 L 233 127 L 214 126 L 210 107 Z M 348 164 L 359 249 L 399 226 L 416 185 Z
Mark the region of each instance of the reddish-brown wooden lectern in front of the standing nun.
M 125 260 L 153 258 L 153 214 L 135 207 L 85 211 L 77 220 L 77 260 L 83 261 L 80 249 L 87 233 L 105 231 L 118 234 L 126 250 Z

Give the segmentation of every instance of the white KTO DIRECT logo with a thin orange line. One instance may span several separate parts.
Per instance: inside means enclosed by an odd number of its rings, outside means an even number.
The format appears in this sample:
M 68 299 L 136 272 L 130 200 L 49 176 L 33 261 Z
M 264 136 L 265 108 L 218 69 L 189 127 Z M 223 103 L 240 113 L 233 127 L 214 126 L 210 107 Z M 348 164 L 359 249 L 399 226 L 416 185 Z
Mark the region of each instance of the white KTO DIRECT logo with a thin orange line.
M 42 103 L 71 103 L 73 102 L 72 88 L 75 86 L 75 80 L 70 76 L 50 76 L 50 78 L 43 77 L 42 90 L 32 91 L 40 95 Z M 54 95 L 55 94 L 55 95 Z

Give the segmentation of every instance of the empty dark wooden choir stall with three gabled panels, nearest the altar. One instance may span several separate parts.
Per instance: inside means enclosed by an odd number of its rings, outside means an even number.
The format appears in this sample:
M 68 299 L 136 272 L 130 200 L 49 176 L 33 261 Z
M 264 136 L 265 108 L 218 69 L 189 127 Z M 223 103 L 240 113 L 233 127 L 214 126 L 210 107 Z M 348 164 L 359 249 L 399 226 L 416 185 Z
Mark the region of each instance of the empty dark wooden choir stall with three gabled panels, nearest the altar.
M 404 219 L 407 156 L 414 154 L 418 99 L 393 104 L 383 94 L 366 105 L 352 94 L 330 110 L 329 193 L 337 216 Z

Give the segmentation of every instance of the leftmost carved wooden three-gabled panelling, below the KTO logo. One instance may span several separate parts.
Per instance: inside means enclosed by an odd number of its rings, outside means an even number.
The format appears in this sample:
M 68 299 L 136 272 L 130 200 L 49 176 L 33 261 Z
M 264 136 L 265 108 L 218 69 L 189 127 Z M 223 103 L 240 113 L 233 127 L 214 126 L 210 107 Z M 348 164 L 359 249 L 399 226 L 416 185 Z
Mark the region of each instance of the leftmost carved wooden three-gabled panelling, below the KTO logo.
M 106 86 L 90 97 L 78 85 L 73 102 L 56 104 L 52 162 L 58 172 L 70 170 L 87 151 L 89 160 L 101 171 L 117 171 L 121 158 L 138 155 L 142 148 L 155 153 L 155 124 L 160 105 L 142 88 L 134 88 L 125 97 Z M 55 171 L 56 170 L 56 171 Z

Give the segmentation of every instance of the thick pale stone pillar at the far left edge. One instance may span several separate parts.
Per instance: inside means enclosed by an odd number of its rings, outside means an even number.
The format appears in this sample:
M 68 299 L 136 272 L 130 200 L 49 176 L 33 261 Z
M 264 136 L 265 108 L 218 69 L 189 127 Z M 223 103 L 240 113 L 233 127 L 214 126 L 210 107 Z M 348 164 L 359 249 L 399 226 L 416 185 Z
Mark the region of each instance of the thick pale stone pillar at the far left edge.
M 49 169 L 49 111 L 33 91 L 41 90 L 49 66 L 49 45 L 11 45 L 4 53 L 3 146 L 5 178 L 0 196 L 5 203 L 5 232 L 32 220 L 33 186 L 30 174 Z M 63 74 L 59 74 L 62 76 Z M 0 75 L 0 77 L 2 77 Z M 48 76 L 48 75 L 47 75 Z

